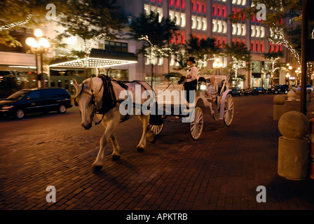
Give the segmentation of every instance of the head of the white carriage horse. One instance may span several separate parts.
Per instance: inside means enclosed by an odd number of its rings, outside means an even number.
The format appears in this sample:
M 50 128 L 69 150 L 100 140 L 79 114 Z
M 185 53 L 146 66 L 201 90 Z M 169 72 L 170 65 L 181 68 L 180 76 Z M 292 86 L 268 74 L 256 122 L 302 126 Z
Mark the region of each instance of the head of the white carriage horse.
M 73 78 L 73 83 L 76 89 L 75 106 L 78 106 L 81 112 L 81 125 L 86 130 L 89 130 L 92 127 L 94 118 L 95 95 L 92 90 L 93 80 L 90 78 L 78 85 L 76 79 Z

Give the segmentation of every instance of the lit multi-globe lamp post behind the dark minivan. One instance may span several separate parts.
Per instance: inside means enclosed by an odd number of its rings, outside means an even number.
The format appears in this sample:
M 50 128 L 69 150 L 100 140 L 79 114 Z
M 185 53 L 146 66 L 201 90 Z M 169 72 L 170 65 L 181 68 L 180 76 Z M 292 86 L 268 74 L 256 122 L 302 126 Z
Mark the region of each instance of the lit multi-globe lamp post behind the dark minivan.
M 34 37 L 27 37 L 25 42 L 31 47 L 32 52 L 36 57 L 36 71 L 37 71 L 37 86 L 41 87 L 41 80 L 43 80 L 43 52 L 46 52 L 50 47 L 48 39 L 43 37 L 41 29 L 34 29 Z M 40 56 L 41 72 L 39 72 L 38 54 Z

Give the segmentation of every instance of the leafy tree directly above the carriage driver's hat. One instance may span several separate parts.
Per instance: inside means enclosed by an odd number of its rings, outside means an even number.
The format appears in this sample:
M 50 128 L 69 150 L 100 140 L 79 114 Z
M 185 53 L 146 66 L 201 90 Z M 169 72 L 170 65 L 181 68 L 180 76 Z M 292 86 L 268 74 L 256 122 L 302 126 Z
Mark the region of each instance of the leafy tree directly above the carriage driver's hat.
M 200 39 L 192 34 L 189 41 L 183 45 L 183 48 L 183 52 L 180 52 L 179 49 L 175 50 L 176 62 L 179 63 L 178 70 L 186 69 L 186 59 L 188 56 L 194 57 L 198 71 L 200 71 L 206 66 L 207 61 L 214 59 L 213 55 L 221 53 L 221 48 L 217 45 L 216 39 Z

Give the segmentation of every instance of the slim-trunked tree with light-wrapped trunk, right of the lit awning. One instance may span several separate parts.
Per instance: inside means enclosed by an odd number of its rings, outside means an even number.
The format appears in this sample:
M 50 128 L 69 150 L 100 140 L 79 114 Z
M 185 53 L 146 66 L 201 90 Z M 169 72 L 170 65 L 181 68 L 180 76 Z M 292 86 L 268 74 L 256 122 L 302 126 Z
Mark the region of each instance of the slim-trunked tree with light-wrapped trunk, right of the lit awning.
M 130 24 L 130 37 L 135 41 L 144 43 L 137 53 L 148 57 L 151 64 L 151 85 L 153 85 L 153 66 L 157 58 L 168 57 L 170 52 L 170 40 L 179 30 L 175 20 L 160 18 L 159 14 L 151 11 L 142 13 Z

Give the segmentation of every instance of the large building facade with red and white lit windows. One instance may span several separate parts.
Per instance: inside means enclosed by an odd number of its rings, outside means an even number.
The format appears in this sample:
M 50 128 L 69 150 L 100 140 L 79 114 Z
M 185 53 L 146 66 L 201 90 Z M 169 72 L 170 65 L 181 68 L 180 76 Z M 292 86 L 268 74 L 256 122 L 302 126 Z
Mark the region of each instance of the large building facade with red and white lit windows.
M 219 45 L 226 43 L 245 43 L 252 52 L 252 69 L 250 71 L 238 71 L 244 75 L 245 80 L 239 80 L 240 88 L 264 86 L 273 84 L 285 84 L 285 73 L 271 80 L 269 69 L 271 63 L 263 57 L 264 52 L 277 52 L 286 50 L 282 45 L 270 43 L 267 36 L 270 35 L 268 28 L 264 27 L 263 21 L 257 17 L 252 20 L 240 18 L 239 22 L 232 24 L 227 20 L 231 13 L 237 13 L 243 8 L 251 6 L 250 0 L 118 0 L 123 8 L 125 16 L 132 20 L 140 13 L 153 10 L 165 18 L 176 18 L 180 27 L 179 34 L 172 38 L 172 43 L 186 43 L 192 34 L 198 38 L 216 38 Z M 140 48 L 140 43 L 137 43 Z M 230 59 L 221 57 L 223 67 L 226 67 Z M 213 62 L 207 62 L 207 68 L 213 68 Z M 285 62 L 285 58 L 282 59 Z M 161 80 L 162 75 L 174 71 L 175 59 L 163 58 L 156 61 L 156 80 Z M 219 69 L 224 73 L 224 69 Z M 151 67 L 144 57 L 139 58 L 137 64 L 139 76 L 149 78 Z M 233 83 L 235 84 L 235 83 Z

